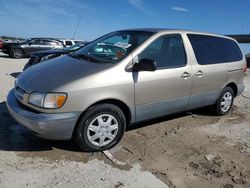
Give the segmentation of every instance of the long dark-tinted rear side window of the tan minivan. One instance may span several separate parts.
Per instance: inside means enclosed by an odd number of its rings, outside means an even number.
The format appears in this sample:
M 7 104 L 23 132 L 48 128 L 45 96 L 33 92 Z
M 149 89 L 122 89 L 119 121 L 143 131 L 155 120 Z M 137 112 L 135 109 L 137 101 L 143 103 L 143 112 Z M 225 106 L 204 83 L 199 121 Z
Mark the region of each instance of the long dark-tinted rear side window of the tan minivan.
M 197 34 L 188 34 L 188 38 L 201 65 L 240 61 L 243 58 L 233 40 Z

